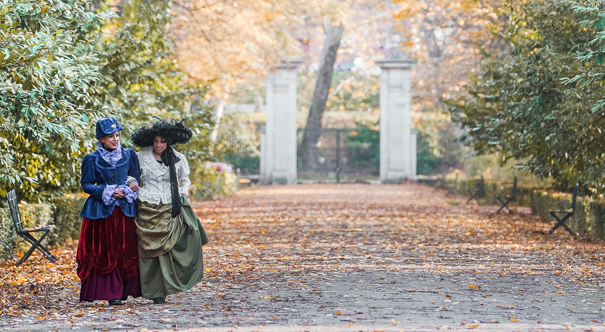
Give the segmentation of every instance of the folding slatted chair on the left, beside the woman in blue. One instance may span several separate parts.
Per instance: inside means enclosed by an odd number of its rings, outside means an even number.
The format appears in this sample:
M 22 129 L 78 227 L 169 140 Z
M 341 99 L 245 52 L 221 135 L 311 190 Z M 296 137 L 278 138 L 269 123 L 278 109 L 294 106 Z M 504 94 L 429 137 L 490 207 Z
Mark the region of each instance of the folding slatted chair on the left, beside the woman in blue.
M 19 237 L 23 238 L 27 243 L 31 244 L 30 249 L 25 252 L 21 260 L 19 260 L 16 266 L 21 265 L 28 257 L 30 257 L 31 253 L 38 249 L 42 252 L 42 255 L 48 258 L 51 263 L 57 261 L 57 258 L 50 252 L 48 249 L 42 245 L 42 240 L 47 237 L 48 234 L 54 229 L 54 225 L 44 225 L 44 226 L 36 226 L 36 227 L 24 227 L 23 221 L 21 220 L 21 211 L 19 210 L 19 203 L 17 202 L 17 195 L 15 190 L 8 191 L 7 193 L 8 199 L 8 209 L 10 209 L 10 216 L 13 219 L 13 225 L 15 226 L 15 231 Z M 23 213 L 27 215 L 27 212 Z M 28 215 L 29 216 L 29 215 Z M 34 219 L 35 216 L 31 215 Z M 39 238 L 33 236 L 33 234 L 42 234 Z

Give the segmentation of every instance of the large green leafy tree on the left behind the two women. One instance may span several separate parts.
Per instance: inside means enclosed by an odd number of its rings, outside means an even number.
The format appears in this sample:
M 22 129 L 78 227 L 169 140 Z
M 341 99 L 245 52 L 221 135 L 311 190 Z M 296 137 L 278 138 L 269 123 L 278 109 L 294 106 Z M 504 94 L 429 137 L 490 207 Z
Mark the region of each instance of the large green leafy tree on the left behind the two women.
M 166 40 L 167 3 L 116 9 L 81 1 L 5 1 L 0 8 L 0 180 L 29 197 L 76 190 L 79 161 L 94 148 L 94 121 L 126 129 L 183 112 L 193 86 Z M 201 107 L 199 133 L 211 126 Z M 126 140 L 125 140 L 126 141 Z M 200 142 L 202 154 L 207 144 Z M 3 187 L 2 190 L 5 190 Z

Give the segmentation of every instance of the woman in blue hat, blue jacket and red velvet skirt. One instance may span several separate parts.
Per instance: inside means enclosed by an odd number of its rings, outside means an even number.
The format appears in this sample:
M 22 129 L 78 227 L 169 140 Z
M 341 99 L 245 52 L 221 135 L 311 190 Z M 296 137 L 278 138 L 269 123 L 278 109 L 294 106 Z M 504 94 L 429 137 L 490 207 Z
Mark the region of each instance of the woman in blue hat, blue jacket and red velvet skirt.
M 82 160 L 80 184 L 90 197 L 80 216 L 77 275 L 80 301 L 122 304 L 141 296 L 134 218 L 140 170 L 136 153 L 120 145 L 122 126 L 113 117 L 97 121 L 97 150 Z M 126 178 L 130 182 L 126 183 Z

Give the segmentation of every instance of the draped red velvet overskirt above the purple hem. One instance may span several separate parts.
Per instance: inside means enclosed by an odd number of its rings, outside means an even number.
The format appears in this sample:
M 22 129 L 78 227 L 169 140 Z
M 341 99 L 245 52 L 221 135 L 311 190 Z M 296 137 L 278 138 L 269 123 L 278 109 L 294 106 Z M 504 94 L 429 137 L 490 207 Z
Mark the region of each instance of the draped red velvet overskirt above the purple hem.
M 77 276 L 86 281 L 91 271 L 110 275 L 115 270 L 122 279 L 138 278 L 139 252 L 134 218 L 126 217 L 119 206 L 105 219 L 82 220 L 77 245 Z

